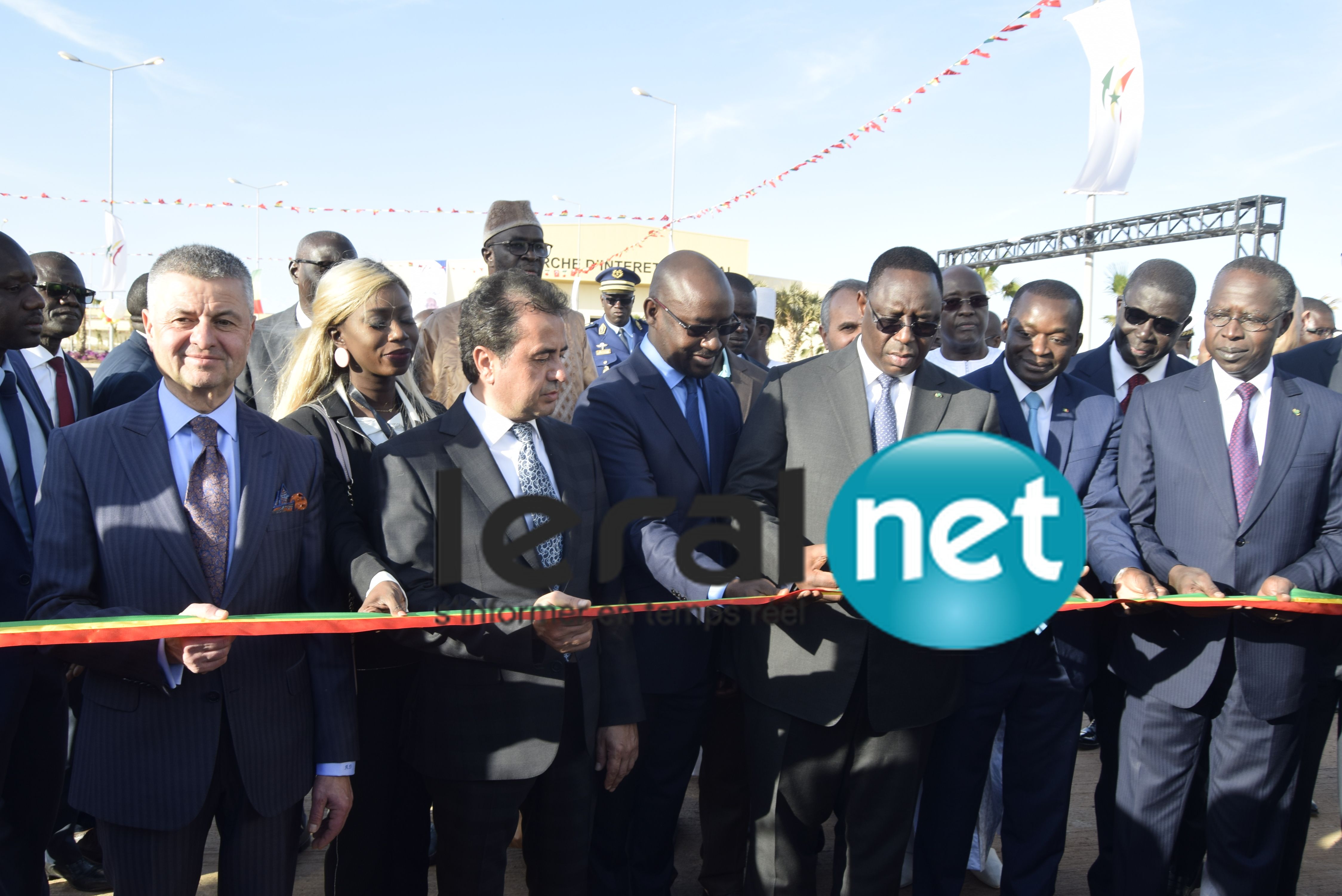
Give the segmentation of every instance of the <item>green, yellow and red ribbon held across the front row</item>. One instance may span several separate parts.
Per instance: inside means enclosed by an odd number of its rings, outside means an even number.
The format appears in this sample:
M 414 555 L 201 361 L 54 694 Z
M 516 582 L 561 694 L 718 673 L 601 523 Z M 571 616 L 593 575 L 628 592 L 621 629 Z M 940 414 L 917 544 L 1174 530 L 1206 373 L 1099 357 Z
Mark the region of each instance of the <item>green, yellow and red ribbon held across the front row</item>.
M 837 594 L 831 591 L 828 594 Z M 227 619 L 197 617 L 97 617 L 90 619 L 62 619 L 59 622 L 0 622 L 0 647 L 52 643 L 105 643 L 125 641 L 157 641 L 158 638 L 207 638 L 220 635 L 276 635 L 276 634 L 354 634 L 388 629 L 431 629 L 439 626 L 476 626 L 535 619 L 613 618 L 632 613 L 659 613 L 698 607 L 757 607 L 796 599 L 797 591 L 784 595 L 750 598 L 723 598 L 719 600 L 674 600 L 668 603 L 616 603 L 569 610 L 562 607 L 488 607 L 446 610 L 443 613 L 411 613 L 391 617 L 380 613 L 280 613 L 270 615 L 239 615 Z M 1099 610 L 1110 600 L 1083 600 L 1068 598 L 1060 611 Z M 1342 596 L 1317 591 L 1291 591 L 1291 600 L 1272 598 L 1208 598 L 1202 594 L 1176 594 L 1154 600 L 1127 603 L 1173 604 L 1180 607 L 1220 607 L 1272 610 L 1275 613 L 1304 613 L 1315 615 L 1342 615 Z M 766 617 L 768 618 L 768 617 Z

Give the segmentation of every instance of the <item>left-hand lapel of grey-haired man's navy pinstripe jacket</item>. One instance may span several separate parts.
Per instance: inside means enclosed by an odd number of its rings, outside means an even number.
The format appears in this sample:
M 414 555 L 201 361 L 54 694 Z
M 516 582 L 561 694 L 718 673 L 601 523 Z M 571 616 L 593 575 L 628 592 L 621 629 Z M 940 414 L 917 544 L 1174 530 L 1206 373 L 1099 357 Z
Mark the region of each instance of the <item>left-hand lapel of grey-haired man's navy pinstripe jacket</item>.
M 149 390 L 130 404 L 125 423 L 113 433 L 111 442 L 126 470 L 126 481 L 136 502 L 149 517 L 149 528 L 158 536 L 164 552 L 199 602 L 209 603 L 209 584 L 200 568 L 187 509 L 172 473 L 168 435 L 164 431 L 162 411 L 158 410 L 158 390 Z

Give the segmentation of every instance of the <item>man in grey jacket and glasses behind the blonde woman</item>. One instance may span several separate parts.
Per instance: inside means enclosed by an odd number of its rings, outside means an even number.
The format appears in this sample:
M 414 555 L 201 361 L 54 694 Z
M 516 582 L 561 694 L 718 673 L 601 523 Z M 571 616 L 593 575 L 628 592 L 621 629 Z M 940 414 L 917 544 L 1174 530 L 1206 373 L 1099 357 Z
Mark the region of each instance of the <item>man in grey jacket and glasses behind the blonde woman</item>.
M 238 396 L 248 407 L 270 416 L 294 339 L 313 322 L 317 281 L 350 258 L 358 258 L 358 253 L 344 234 L 319 230 L 298 240 L 294 258 L 289 262 L 289 278 L 298 286 L 298 301 L 256 321 L 256 333 L 247 349 L 247 367 L 238 377 Z

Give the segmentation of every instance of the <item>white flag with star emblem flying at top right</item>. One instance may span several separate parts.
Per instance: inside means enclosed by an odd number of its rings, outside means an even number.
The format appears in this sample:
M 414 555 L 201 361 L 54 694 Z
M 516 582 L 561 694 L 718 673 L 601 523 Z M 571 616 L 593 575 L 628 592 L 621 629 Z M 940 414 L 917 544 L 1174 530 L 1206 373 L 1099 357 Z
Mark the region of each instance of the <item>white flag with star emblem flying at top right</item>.
M 1090 154 L 1070 193 L 1125 193 L 1142 142 L 1142 48 L 1129 0 L 1104 0 L 1067 16 L 1090 75 Z

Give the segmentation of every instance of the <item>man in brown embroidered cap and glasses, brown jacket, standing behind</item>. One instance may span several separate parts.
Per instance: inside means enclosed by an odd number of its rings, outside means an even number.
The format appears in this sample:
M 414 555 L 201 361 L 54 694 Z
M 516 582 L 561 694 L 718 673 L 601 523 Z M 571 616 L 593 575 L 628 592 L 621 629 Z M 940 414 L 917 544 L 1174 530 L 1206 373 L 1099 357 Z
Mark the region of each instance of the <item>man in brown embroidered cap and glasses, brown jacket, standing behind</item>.
M 545 242 L 545 231 L 531 211 L 530 200 L 501 199 L 490 206 L 484 216 L 480 255 L 491 274 L 515 267 L 527 274 L 541 275 L 545 259 L 550 255 L 550 246 Z M 460 321 L 462 302 L 452 302 L 433 312 L 424 321 L 419 349 L 415 353 L 415 377 L 420 390 L 444 407 L 451 407 L 468 386 L 466 375 L 462 373 L 458 339 Z M 582 314 L 572 308 L 564 314 L 569 351 L 564 359 L 565 380 L 560 383 L 560 398 L 553 414 L 554 419 L 564 423 L 573 419 L 578 395 L 597 376 L 592 348 L 582 332 L 585 322 Z

